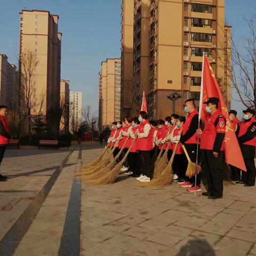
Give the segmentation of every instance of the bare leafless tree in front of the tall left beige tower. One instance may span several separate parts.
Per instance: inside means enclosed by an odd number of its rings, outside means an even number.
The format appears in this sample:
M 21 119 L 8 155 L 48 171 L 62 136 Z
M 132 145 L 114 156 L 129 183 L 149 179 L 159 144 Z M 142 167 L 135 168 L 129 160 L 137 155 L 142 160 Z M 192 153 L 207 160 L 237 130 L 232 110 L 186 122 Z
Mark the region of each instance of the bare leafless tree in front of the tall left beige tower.
M 31 140 L 31 125 L 33 119 L 38 115 L 43 115 L 45 94 L 46 92 L 36 91 L 36 68 L 38 59 L 36 53 L 27 48 L 20 55 L 20 92 L 21 92 L 21 107 L 20 114 L 28 117 L 28 133 Z

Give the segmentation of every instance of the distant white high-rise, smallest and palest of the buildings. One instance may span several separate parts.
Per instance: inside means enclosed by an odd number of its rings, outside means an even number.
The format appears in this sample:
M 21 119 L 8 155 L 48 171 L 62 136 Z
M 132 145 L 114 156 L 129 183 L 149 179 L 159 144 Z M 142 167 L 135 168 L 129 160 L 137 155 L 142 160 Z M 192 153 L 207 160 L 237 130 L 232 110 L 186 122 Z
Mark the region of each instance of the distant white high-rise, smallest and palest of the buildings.
M 69 130 L 77 132 L 82 124 L 82 92 L 69 92 Z

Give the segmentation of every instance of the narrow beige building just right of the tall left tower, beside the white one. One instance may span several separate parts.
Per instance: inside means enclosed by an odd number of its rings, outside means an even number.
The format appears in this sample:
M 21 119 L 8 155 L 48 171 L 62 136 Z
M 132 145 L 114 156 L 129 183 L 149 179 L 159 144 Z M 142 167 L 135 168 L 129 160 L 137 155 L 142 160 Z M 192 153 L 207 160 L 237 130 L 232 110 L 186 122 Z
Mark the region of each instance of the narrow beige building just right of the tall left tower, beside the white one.
M 68 115 L 69 115 L 69 80 L 60 81 L 60 109 L 61 109 L 61 119 L 60 119 L 60 131 L 68 131 Z

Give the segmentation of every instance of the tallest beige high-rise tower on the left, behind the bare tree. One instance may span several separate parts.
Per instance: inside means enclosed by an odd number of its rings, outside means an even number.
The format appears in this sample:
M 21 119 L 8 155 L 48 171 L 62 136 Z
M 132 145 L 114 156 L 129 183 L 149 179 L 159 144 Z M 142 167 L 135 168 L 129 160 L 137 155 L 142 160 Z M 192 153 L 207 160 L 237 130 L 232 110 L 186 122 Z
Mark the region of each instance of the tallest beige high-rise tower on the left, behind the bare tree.
M 58 33 L 58 15 L 49 11 L 22 10 L 20 12 L 20 98 L 22 103 L 25 87 L 25 65 L 30 55 L 36 59 L 37 65 L 32 69 L 33 91 L 31 97 L 37 101 L 33 104 L 32 113 L 46 115 L 52 131 L 59 129 L 59 122 L 54 118 L 60 102 L 60 60 L 61 60 L 61 33 Z M 35 63 L 35 61 L 34 61 Z M 24 97 L 23 97 L 24 98 Z M 22 106 L 22 105 L 21 105 Z M 51 119 L 51 120 L 50 120 Z M 53 127 L 54 126 L 54 127 Z

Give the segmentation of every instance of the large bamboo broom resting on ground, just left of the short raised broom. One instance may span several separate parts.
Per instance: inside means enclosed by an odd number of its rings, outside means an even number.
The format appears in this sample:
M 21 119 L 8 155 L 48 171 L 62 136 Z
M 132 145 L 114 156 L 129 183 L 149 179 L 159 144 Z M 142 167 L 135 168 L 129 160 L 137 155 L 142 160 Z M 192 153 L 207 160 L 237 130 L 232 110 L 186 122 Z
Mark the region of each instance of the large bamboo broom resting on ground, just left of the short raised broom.
M 153 178 L 153 180 L 151 180 L 150 182 L 140 183 L 141 187 L 162 188 L 172 183 L 172 180 L 173 180 L 172 163 L 173 163 L 173 159 L 174 159 L 177 147 L 178 147 L 178 143 L 176 143 L 171 159 L 167 164 L 167 166 L 165 167 L 165 169 L 163 170 L 163 172 L 161 172 L 157 178 Z

